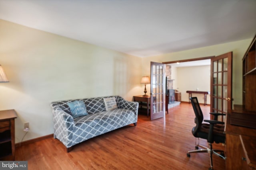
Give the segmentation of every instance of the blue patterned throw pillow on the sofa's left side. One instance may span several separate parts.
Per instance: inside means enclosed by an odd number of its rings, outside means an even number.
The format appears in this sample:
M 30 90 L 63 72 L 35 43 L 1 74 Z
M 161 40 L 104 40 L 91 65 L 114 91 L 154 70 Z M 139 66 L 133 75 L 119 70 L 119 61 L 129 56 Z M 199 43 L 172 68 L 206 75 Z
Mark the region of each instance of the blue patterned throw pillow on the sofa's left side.
M 74 118 L 88 115 L 86 106 L 83 101 L 69 102 L 68 107 L 70 108 L 71 115 Z

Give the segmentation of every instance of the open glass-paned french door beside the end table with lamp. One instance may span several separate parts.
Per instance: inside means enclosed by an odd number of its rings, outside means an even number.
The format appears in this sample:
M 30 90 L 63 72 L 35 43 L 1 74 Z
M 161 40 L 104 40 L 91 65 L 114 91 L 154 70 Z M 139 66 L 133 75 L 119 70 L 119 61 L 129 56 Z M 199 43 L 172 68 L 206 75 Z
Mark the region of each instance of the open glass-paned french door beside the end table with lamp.
M 165 64 L 150 63 L 150 119 L 165 116 Z

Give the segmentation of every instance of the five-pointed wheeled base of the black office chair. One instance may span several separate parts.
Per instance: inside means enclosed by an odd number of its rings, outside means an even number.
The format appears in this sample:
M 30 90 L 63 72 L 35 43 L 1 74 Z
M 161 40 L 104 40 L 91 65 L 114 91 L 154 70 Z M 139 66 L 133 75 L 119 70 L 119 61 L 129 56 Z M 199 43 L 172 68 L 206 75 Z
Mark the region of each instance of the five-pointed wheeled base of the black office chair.
M 203 148 L 203 149 L 198 149 L 198 147 Z M 210 168 L 209 170 L 213 170 L 213 165 L 212 165 L 212 154 L 215 154 L 217 156 L 219 156 L 220 158 L 226 160 L 226 157 L 224 156 L 224 151 L 223 150 L 216 150 L 216 149 L 212 149 L 212 144 L 209 143 L 209 148 L 203 146 L 203 145 L 196 145 L 196 150 L 190 150 L 187 152 L 187 156 L 190 157 L 190 153 L 198 153 L 198 152 L 207 152 L 209 153 L 209 157 L 210 157 Z M 220 152 L 220 153 L 218 153 Z

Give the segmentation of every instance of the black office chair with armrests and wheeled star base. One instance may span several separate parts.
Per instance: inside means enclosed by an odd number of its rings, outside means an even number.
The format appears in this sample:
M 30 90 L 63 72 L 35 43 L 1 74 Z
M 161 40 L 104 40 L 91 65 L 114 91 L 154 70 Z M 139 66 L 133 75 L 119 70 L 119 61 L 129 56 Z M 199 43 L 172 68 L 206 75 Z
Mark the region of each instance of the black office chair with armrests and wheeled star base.
M 224 134 L 224 122 L 222 121 L 217 121 L 218 115 L 225 115 L 222 113 L 210 113 L 214 115 L 214 120 L 204 120 L 204 116 L 202 113 L 202 110 L 200 108 L 200 105 L 198 103 L 198 100 L 196 97 L 191 97 L 190 98 L 191 104 L 194 109 L 194 113 L 196 115 L 195 118 L 195 123 L 196 126 L 193 127 L 192 129 L 192 134 L 194 137 L 206 139 L 208 141 L 209 147 L 204 147 L 202 145 L 196 144 L 196 150 L 191 150 L 188 151 L 187 156 L 190 157 L 190 153 L 194 152 L 208 152 L 210 156 L 210 168 L 209 170 L 213 170 L 212 166 L 212 154 L 216 154 L 222 159 L 226 159 L 224 156 L 223 150 L 214 150 L 212 149 L 212 143 L 225 143 L 225 134 Z M 202 121 L 208 122 L 208 123 L 202 123 Z M 198 148 L 203 148 L 203 149 L 198 149 Z M 220 152 L 220 153 L 218 153 Z

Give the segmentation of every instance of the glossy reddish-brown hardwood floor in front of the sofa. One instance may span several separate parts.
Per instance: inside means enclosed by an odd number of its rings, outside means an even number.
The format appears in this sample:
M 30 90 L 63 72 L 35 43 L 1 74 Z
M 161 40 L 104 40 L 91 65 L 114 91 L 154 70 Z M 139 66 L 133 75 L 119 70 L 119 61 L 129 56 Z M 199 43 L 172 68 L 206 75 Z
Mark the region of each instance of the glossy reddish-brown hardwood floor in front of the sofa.
M 209 119 L 210 106 L 201 105 Z M 49 138 L 16 148 L 16 160 L 28 160 L 29 170 L 208 170 L 207 153 L 186 156 L 195 147 L 191 104 L 169 109 L 165 120 L 150 121 L 139 115 L 137 126 L 129 125 L 74 146 L 67 153 L 57 139 Z M 200 144 L 207 146 L 206 140 Z M 224 149 L 221 144 L 214 148 Z M 225 161 L 213 156 L 214 170 L 224 170 Z

